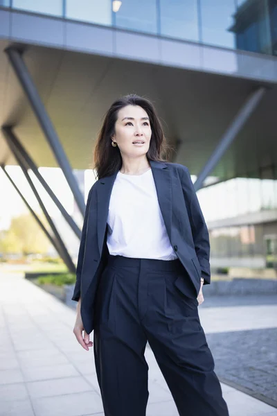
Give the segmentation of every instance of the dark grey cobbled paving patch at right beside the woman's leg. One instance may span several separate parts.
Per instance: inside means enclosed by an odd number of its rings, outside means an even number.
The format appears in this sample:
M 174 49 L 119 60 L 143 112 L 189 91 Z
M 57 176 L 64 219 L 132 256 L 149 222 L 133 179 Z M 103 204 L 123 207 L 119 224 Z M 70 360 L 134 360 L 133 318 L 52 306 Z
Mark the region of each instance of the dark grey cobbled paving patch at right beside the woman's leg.
M 222 379 L 276 401 L 277 329 L 253 329 L 206 334 Z

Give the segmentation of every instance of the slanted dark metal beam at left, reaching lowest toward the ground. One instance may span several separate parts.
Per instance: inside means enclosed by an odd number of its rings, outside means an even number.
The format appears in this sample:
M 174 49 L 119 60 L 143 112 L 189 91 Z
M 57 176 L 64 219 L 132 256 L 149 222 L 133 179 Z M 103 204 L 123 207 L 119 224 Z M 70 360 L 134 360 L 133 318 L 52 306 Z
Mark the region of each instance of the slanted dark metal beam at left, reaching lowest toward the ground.
M 4 132 L 5 134 L 5 132 Z M 66 249 L 66 246 L 64 245 L 64 242 L 62 241 L 62 238 L 59 234 L 59 232 L 57 231 L 57 228 L 55 227 L 55 224 L 53 223 L 53 220 L 51 218 L 51 216 L 48 214 L 48 211 L 44 205 L 44 203 L 42 202 L 42 199 L 39 196 L 39 193 L 37 192 L 37 189 L 35 188 L 35 185 L 33 184 L 33 181 L 30 179 L 30 176 L 28 175 L 28 166 L 26 165 L 26 162 L 24 161 L 23 157 L 20 155 L 19 151 L 17 150 L 17 148 L 15 147 L 14 144 L 12 144 L 12 141 L 10 141 L 9 139 L 7 139 L 7 136 L 5 134 L 6 137 L 6 141 L 7 144 L 10 148 L 10 151 L 12 152 L 12 154 L 15 156 L 15 159 L 17 160 L 17 163 L 19 164 L 19 166 L 21 167 L 26 180 L 28 181 L 28 184 L 30 185 L 30 188 L 32 189 L 33 193 L 35 194 L 35 197 L 37 198 L 37 202 L 39 202 L 39 206 L 41 207 L 44 216 L 46 217 L 46 220 L 48 221 L 49 226 L 52 229 L 52 232 L 55 236 L 55 248 L 57 250 L 57 252 L 60 254 L 60 257 L 62 257 L 64 263 L 66 264 L 67 268 L 69 269 L 69 272 L 74 273 L 76 272 L 76 268 L 75 268 L 75 264 L 73 263 L 69 252 Z

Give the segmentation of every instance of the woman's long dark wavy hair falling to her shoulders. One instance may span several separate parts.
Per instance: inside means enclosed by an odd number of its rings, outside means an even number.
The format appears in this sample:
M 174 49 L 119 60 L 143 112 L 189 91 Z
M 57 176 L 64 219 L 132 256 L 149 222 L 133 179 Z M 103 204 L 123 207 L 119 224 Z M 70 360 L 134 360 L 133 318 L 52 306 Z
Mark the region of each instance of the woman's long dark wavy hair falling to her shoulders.
M 98 134 L 94 150 L 94 169 L 97 171 L 98 179 L 112 175 L 122 166 L 120 150 L 118 146 L 111 146 L 111 136 L 114 135 L 114 125 L 118 117 L 118 111 L 126 107 L 126 105 L 140 105 L 148 114 L 152 130 L 150 146 L 148 153 L 146 153 L 148 159 L 166 162 L 168 153 L 172 150 L 166 142 L 161 121 L 159 121 L 154 105 L 148 98 L 143 98 L 136 94 L 122 96 L 114 101 L 109 110 L 107 110 Z

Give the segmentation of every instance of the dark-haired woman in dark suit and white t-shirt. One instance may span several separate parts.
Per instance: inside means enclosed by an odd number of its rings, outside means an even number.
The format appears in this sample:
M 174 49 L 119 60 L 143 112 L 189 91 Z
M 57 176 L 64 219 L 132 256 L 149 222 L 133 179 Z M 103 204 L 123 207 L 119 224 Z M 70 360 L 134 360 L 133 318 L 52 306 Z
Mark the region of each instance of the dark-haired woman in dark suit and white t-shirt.
M 197 309 L 211 281 L 208 229 L 188 168 L 165 151 L 150 101 L 111 105 L 94 153 L 73 332 L 93 345 L 106 416 L 145 415 L 147 341 L 179 415 L 228 416 Z

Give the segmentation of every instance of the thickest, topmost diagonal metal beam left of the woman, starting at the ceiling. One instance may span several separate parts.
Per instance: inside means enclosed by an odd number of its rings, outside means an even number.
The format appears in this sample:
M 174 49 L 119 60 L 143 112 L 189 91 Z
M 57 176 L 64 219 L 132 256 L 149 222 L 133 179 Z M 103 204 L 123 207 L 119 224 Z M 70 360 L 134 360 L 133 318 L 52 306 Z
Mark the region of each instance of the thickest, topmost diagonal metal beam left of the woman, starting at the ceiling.
M 19 79 L 22 88 L 28 96 L 28 100 L 33 108 L 33 111 L 35 112 L 35 115 L 37 116 L 39 125 L 41 125 L 44 135 L 46 136 L 46 139 L 48 141 L 48 144 L 49 146 L 51 146 L 51 149 L 53 150 L 55 159 L 57 160 L 57 164 L 58 166 L 60 166 L 60 168 L 62 168 L 64 176 L 66 177 L 66 180 L 69 183 L 69 187 L 75 198 L 75 201 L 80 209 L 82 216 L 84 217 L 84 198 L 82 197 L 82 193 L 78 187 L 78 183 L 75 180 L 72 168 L 66 157 L 66 153 L 62 148 L 62 144 L 60 144 L 60 140 L 57 136 L 57 132 L 55 131 L 53 123 L 51 122 L 51 119 L 46 112 L 44 104 L 42 103 L 42 100 L 39 97 L 35 84 L 33 83 L 30 73 L 28 72 L 28 68 L 26 67 L 25 62 L 22 59 L 22 51 L 19 51 L 19 49 L 15 48 L 15 46 L 8 46 L 8 48 L 5 49 L 5 52 L 7 53 L 10 63 L 12 64 L 12 67 L 15 70 L 15 73 L 17 74 L 17 78 Z

